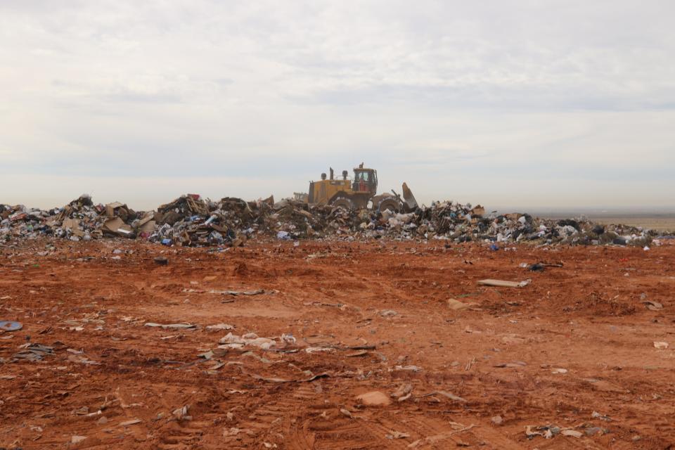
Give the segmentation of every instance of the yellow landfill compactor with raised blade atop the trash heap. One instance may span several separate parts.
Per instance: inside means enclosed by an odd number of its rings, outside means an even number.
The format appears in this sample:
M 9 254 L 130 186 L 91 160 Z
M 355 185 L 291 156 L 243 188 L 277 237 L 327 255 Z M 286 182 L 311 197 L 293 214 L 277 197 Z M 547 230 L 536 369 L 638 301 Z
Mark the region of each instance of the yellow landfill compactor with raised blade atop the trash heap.
M 418 205 L 408 186 L 403 184 L 403 198 L 392 191 L 393 194 L 378 193 L 378 171 L 367 169 L 361 162 L 359 167 L 354 167 L 354 176 L 349 177 L 349 172 L 342 171 L 342 178 L 335 179 L 333 168 L 330 168 L 330 176 L 321 174 L 321 181 L 309 182 L 309 194 L 307 203 L 310 205 L 333 205 L 346 210 L 390 210 L 392 212 L 413 211 Z

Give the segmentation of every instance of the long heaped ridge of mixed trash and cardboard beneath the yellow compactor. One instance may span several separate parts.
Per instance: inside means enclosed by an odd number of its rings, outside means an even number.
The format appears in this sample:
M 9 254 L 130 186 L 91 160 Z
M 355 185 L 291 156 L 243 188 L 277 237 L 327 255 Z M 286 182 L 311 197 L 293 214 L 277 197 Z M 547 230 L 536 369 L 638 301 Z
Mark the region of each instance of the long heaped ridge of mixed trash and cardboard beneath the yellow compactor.
M 139 238 L 163 245 L 240 246 L 250 238 L 394 240 L 442 239 L 454 243 L 527 242 L 539 245 L 635 245 L 645 247 L 655 231 L 604 226 L 587 219 L 539 219 L 529 214 L 486 213 L 480 205 L 434 202 L 407 213 L 345 210 L 291 198 L 219 201 L 186 194 L 157 211 L 135 212 L 122 203 L 95 205 L 82 195 L 52 210 L 0 204 L 0 242 L 54 236 L 70 240 Z

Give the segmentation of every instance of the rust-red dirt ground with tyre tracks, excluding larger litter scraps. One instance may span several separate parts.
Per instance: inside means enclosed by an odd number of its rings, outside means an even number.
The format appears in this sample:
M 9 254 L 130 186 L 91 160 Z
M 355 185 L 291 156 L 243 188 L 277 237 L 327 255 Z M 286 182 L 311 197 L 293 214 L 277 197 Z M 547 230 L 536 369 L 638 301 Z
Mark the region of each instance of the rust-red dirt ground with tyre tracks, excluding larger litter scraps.
M 23 323 L 0 335 L 0 447 L 675 448 L 672 245 L 48 244 L 0 247 L 0 319 Z M 564 266 L 520 267 L 540 261 Z M 200 358 L 216 323 L 277 345 Z M 27 342 L 54 354 L 12 361 Z M 372 391 L 389 404 L 356 398 Z

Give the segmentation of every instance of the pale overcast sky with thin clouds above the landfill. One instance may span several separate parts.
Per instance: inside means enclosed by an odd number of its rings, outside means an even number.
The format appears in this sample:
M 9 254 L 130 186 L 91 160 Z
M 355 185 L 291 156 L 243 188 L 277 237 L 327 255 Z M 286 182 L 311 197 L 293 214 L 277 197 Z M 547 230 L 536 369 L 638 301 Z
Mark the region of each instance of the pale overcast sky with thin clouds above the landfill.
M 2 0 L 0 203 L 675 198 L 673 1 Z

